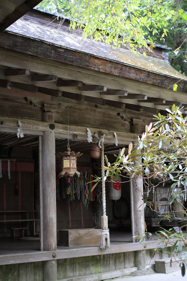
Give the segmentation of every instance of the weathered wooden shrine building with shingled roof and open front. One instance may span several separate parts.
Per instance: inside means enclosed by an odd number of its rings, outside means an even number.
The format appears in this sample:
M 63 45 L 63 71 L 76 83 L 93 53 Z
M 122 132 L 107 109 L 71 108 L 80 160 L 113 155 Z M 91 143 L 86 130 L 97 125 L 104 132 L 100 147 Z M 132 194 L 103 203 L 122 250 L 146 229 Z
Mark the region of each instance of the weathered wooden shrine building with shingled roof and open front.
M 166 256 L 152 258 L 157 241 L 132 241 L 144 230 L 133 182 L 122 183 L 117 202 L 107 195 L 111 245 L 100 249 L 93 230 L 101 228 L 102 193 L 89 181 L 100 176 L 101 162 L 89 151 L 94 133 L 104 133 L 112 163 L 154 114 L 187 106 L 187 78 L 167 62 L 165 46 L 137 56 L 83 40 L 67 18 L 38 9 L 23 14 L 0 33 L 0 280 L 99 281 L 154 267 Z M 71 150 L 83 153 L 79 180 L 58 178 L 55 155 L 67 150 L 68 138 Z M 83 229 L 91 234 L 74 244 Z

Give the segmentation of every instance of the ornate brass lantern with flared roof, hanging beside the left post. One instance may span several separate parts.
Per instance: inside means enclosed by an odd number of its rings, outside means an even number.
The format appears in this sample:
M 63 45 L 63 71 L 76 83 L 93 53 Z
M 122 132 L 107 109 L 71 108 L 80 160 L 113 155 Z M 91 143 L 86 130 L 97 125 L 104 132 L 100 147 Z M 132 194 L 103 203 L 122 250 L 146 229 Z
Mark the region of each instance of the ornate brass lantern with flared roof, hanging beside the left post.
M 64 151 L 63 153 L 57 153 L 63 167 L 62 172 L 59 174 L 59 178 L 63 176 L 65 176 L 65 178 L 69 178 L 73 177 L 75 174 L 79 177 L 80 173 L 77 171 L 77 157 L 83 155 L 83 153 L 80 154 L 80 152 L 75 153 L 74 151 L 71 151 L 69 144 L 67 150 L 68 151 Z

